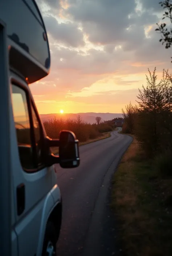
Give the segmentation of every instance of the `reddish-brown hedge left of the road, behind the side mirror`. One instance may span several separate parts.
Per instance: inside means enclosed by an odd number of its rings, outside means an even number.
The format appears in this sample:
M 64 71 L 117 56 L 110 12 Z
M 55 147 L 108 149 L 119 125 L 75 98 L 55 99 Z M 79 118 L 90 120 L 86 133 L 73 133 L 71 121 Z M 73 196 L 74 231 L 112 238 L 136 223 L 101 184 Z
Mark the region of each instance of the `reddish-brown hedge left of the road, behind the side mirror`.
M 102 133 L 112 131 L 115 128 L 115 125 L 110 122 L 91 125 L 85 122 L 80 115 L 76 119 L 49 119 L 44 121 L 44 126 L 47 135 L 52 139 L 57 139 L 61 130 L 70 130 L 75 133 L 80 142 L 96 139 Z

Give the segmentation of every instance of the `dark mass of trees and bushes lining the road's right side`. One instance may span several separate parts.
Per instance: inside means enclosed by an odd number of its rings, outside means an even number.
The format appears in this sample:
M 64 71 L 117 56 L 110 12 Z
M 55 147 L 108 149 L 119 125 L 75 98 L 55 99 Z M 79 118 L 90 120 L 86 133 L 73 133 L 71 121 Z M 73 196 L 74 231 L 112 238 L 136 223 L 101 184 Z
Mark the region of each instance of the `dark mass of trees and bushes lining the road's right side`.
M 156 68 L 148 72 L 147 86 L 139 89 L 137 105 L 130 103 L 122 109 L 122 131 L 134 134 L 146 157 L 156 159 L 160 171 L 172 174 L 172 76 L 163 70 L 158 82 Z

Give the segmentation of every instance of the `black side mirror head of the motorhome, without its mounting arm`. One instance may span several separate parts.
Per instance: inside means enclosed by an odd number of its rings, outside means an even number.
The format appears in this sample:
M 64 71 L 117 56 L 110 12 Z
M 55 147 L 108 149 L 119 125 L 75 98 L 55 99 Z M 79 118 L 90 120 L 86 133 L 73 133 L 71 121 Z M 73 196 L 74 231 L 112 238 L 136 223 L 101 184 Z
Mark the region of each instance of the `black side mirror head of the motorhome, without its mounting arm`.
M 78 140 L 72 131 L 62 130 L 59 138 L 59 163 L 62 168 L 78 167 Z

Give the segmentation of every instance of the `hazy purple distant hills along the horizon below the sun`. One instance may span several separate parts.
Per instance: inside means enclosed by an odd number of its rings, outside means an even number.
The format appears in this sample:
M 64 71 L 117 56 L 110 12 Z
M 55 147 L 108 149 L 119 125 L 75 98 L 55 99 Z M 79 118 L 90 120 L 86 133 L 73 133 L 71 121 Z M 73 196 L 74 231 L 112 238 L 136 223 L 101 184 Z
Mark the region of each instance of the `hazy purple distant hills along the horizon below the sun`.
M 101 117 L 102 121 L 106 121 L 106 120 L 111 120 L 114 119 L 116 117 L 122 117 L 122 113 L 94 113 L 94 112 L 90 112 L 90 113 L 77 113 L 77 114 L 40 114 L 40 117 L 42 120 L 48 120 L 48 119 L 52 119 L 52 118 L 57 118 L 57 119 L 75 119 L 77 118 L 77 116 L 80 115 L 81 118 L 88 122 L 88 123 L 95 123 L 95 118 L 96 117 Z

